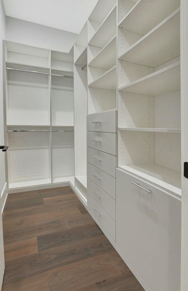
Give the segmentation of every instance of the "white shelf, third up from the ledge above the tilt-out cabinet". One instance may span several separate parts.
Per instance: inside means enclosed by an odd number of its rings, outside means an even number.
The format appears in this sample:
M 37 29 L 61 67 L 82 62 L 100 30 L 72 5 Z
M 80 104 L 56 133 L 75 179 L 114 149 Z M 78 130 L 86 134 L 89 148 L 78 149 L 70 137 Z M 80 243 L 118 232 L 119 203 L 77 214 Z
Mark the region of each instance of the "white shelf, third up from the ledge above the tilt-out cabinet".
M 118 58 L 157 67 L 180 55 L 180 8 L 142 37 Z

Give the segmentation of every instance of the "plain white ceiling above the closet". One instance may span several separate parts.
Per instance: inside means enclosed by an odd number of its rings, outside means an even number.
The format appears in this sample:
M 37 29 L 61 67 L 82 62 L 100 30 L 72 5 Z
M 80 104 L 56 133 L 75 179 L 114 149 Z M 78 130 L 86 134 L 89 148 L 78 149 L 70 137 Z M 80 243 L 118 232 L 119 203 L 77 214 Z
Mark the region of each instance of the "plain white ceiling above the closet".
M 3 0 L 7 16 L 80 33 L 97 0 Z

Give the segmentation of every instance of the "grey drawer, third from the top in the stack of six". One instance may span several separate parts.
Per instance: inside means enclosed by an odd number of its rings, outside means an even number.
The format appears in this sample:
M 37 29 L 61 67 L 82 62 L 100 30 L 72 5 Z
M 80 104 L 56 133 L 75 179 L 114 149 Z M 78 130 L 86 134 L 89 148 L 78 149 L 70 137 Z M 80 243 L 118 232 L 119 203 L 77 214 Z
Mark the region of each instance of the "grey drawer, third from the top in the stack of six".
M 116 156 L 87 147 L 87 162 L 115 178 Z

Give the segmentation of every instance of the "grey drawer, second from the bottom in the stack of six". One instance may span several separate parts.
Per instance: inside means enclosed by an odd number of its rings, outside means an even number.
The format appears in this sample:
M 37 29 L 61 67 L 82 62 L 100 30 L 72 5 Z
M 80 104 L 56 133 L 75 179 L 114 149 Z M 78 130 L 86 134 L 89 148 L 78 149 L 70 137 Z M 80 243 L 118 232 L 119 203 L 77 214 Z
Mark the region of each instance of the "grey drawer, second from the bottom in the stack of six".
M 100 206 L 115 220 L 115 200 L 87 178 L 87 191 Z

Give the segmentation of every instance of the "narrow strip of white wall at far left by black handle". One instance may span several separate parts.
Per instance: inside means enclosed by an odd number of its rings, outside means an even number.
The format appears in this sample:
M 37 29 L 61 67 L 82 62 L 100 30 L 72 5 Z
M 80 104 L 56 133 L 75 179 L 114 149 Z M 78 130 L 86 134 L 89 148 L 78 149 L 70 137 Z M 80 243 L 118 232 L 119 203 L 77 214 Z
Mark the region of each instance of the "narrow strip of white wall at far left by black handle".
M 4 11 L 3 0 L 0 0 L 0 145 L 4 145 L 4 119 L 3 119 L 3 39 L 5 39 L 6 33 L 6 16 Z M 0 192 L 3 194 L 4 187 L 6 185 L 5 180 L 5 158 L 4 152 L 0 152 Z M 4 203 L 4 197 L 1 199 L 1 210 Z

